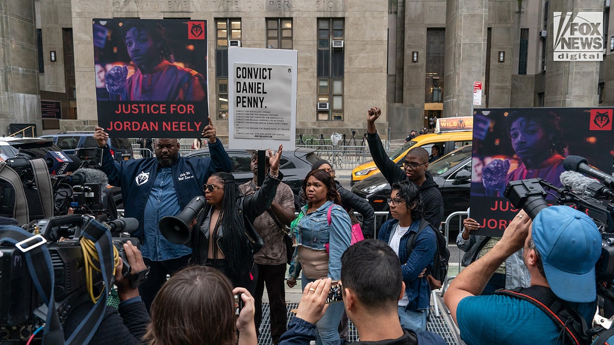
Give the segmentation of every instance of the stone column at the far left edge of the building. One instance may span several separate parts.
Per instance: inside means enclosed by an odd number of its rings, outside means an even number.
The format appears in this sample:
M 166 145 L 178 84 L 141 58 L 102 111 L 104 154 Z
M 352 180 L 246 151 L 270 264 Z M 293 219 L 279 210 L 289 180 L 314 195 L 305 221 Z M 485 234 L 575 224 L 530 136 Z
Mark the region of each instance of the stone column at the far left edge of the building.
M 0 0 L 0 135 L 9 123 L 42 133 L 34 18 L 33 0 Z

